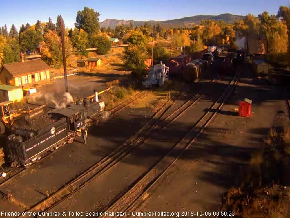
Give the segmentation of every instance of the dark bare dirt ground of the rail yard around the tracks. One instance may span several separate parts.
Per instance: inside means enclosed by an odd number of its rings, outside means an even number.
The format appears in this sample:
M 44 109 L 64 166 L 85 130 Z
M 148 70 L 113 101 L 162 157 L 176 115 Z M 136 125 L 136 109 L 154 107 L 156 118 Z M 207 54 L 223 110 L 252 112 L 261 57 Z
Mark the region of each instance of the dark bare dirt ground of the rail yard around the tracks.
M 251 152 L 261 146 L 269 128 L 289 124 L 281 87 L 255 85 L 249 68 L 244 66 L 240 70 L 241 77 L 237 87 L 222 110 L 166 174 L 138 201 L 134 206 L 135 211 L 218 211 L 222 194 L 239 182 L 241 167 L 247 164 Z M 182 116 L 164 129 L 151 131 L 148 141 L 49 211 L 104 211 L 184 137 L 231 81 L 231 77 L 224 75 L 218 82 L 208 84 L 213 75 L 214 73 L 208 73 L 207 77 L 191 87 L 195 91 L 204 88 L 203 96 Z M 90 76 L 73 76 L 69 78 L 71 94 L 73 97 L 91 95 L 93 89 L 103 89 L 104 82 L 109 78 L 112 77 L 108 76 L 101 81 Z M 86 80 L 89 84 L 87 86 Z M 58 81 L 63 82 L 62 79 Z M 54 90 L 52 87 L 56 88 L 57 83 L 44 85 L 39 90 Z M 79 87 L 74 87 L 76 84 Z M 77 94 L 80 90 L 83 90 L 83 96 Z M 61 96 L 62 92 L 55 90 L 55 93 Z M 192 93 L 182 94 L 165 115 L 177 110 L 191 97 Z M 235 111 L 238 102 L 244 98 L 253 100 L 250 118 L 240 118 Z M 0 210 L 22 212 L 46 198 L 124 143 L 153 114 L 149 107 L 126 107 L 107 122 L 92 127 L 88 132 L 87 145 L 82 144 L 81 137 L 77 138 L 72 144 L 65 145 L 45 161 L 32 165 L 23 174 L 1 186 L 3 198 L 0 199 Z M 7 189 L 13 196 L 12 201 L 5 199 Z M 66 217 L 73 216 L 67 214 Z

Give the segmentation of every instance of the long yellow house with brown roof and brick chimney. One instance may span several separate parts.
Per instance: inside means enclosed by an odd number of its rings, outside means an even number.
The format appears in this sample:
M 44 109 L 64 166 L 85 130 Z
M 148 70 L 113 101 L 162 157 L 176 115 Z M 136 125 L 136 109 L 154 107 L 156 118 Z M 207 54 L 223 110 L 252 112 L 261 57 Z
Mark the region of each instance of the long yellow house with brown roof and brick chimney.
M 3 64 L 0 69 L 0 83 L 30 87 L 50 80 L 50 66 L 43 60 L 34 59 Z

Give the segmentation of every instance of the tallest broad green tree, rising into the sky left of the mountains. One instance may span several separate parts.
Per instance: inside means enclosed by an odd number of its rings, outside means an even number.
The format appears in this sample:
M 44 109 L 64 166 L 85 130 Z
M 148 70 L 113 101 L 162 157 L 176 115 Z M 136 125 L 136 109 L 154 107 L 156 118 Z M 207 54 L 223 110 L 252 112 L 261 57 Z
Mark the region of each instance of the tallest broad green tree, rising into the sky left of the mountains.
M 99 30 L 99 16 L 100 14 L 93 8 L 84 7 L 84 10 L 77 12 L 75 27 L 83 29 L 91 38 Z

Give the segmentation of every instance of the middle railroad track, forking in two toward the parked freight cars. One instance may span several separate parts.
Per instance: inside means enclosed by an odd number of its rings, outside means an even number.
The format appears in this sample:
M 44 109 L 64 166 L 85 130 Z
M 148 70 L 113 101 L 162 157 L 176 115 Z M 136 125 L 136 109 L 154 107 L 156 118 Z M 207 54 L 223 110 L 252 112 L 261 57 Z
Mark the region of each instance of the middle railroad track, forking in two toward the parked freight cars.
M 210 83 L 218 82 L 218 80 L 219 80 L 218 78 L 215 78 L 211 80 Z M 146 93 L 142 93 L 141 95 L 137 94 L 135 95 L 135 97 L 139 98 L 140 96 L 144 96 Z M 187 109 L 189 109 L 189 107 L 195 104 L 195 102 L 197 102 L 202 97 L 202 94 L 197 93 L 191 99 L 184 102 L 184 104 L 182 104 L 177 110 L 173 111 L 168 116 L 166 116 L 166 112 L 169 109 L 171 109 L 171 107 L 180 98 L 180 96 L 182 96 L 182 93 L 180 93 L 180 95 L 177 96 L 177 98 L 175 98 L 172 103 L 170 103 L 170 100 L 168 100 L 163 105 L 163 107 L 136 134 L 131 136 L 125 143 L 117 147 L 108 156 L 102 158 L 96 164 L 94 164 L 93 166 L 91 166 L 90 168 L 82 172 L 80 175 L 78 175 L 75 179 L 67 183 L 63 188 L 59 189 L 48 198 L 45 198 L 44 200 L 40 201 L 39 203 L 32 206 L 26 211 L 41 210 L 41 211 L 46 212 L 55 208 L 59 203 L 66 200 L 68 197 L 75 194 L 81 188 L 88 185 L 94 179 L 96 179 L 97 177 L 105 173 L 107 170 L 109 170 L 111 167 L 113 167 L 116 163 L 118 163 L 125 156 L 127 156 L 132 149 L 135 149 L 136 147 L 146 143 L 146 141 L 150 139 L 150 137 L 146 137 L 146 136 L 150 135 L 149 132 L 151 130 L 156 129 L 156 128 L 166 128 L 166 126 L 168 126 L 170 123 L 176 120 Z M 137 98 L 133 98 L 133 99 L 137 99 Z M 132 99 L 129 99 L 127 104 L 125 104 L 125 107 L 131 102 L 132 102 Z M 124 104 L 121 108 L 123 107 L 124 107 Z M 119 111 L 119 109 L 117 109 L 116 111 Z M 42 207 L 43 205 L 46 205 L 46 207 L 45 208 Z

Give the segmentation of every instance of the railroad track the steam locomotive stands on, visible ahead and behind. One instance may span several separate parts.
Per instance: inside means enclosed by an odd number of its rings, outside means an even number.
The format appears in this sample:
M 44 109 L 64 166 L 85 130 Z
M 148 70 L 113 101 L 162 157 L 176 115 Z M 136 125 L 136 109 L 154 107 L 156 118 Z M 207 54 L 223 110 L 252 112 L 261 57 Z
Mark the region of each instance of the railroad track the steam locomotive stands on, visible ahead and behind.
M 112 110 L 111 110 L 111 114 L 115 114 L 119 111 L 121 111 L 122 109 L 124 109 L 125 107 L 127 107 L 130 103 L 134 102 L 135 100 L 139 99 L 139 98 L 142 98 L 144 97 L 149 91 L 146 90 L 146 91 L 141 91 L 139 93 L 137 93 L 136 95 L 134 95 L 132 98 L 129 98 L 128 100 L 122 102 L 120 105 L 114 107 Z M 31 104 L 31 103 L 28 103 L 30 105 L 36 105 L 36 104 Z M 53 108 L 52 108 L 53 109 Z M 41 158 L 41 161 L 44 160 L 47 156 L 49 156 L 52 152 L 46 154 L 45 156 L 43 156 Z M 38 162 L 35 162 L 35 163 L 38 163 Z M 34 165 L 35 163 L 33 163 L 32 165 Z M 30 166 L 31 167 L 31 166 Z M 23 173 L 25 171 L 26 168 L 22 168 L 21 170 L 19 170 L 18 168 L 15 168 L 15 169 L 11 169 L 9 170 L 8 172 L 6 172 L 6 174 L 9 176 L 8 179 L 3 179 L 3 177 L 1 177 L 1 182 L 0 182 L 0 187 L 3 186 L 4 184 L 8 183 L 9 181 L 12 180 L 12 178 L 14 178 L 15 176 L 17 176 L 18 174 L 20 173 Z M 12 175 L 11 175 L 12 174 Z

